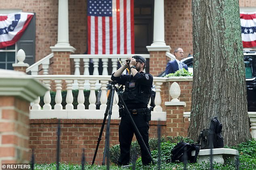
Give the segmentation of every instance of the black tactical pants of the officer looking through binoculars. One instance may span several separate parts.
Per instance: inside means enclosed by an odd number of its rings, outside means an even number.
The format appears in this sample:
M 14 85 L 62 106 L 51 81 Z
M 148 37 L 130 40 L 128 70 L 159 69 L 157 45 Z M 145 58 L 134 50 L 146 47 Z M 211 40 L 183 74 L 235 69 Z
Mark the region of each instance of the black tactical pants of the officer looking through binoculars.
M 151 163 L 151 158 L 147 154 L 147 150 L 150 152 L 149 148 L 149 122 L 145 121 L 144 113 L 137 113 L 136 115 L 132 115 L 132 119 L 134 120 L 139 132 L 142 135 L 143 141 L 145 142 L 147 148 L 144 147 L 143 143 L 140 141 L 139 136 L 136 135 L 135 129 L 130 121 L 130 117 L 128 113 L 121 118 L 121 122 L 119 125 L 119 142 L 120 142 L 120 157 L 119 157 L 119 165 L 128 165 L 130 160 L 130 145 L 132 143 L 132 137 L 135 133 L 138 144 L 141 147 L 141 160 L 143 165 L 147 165 Z

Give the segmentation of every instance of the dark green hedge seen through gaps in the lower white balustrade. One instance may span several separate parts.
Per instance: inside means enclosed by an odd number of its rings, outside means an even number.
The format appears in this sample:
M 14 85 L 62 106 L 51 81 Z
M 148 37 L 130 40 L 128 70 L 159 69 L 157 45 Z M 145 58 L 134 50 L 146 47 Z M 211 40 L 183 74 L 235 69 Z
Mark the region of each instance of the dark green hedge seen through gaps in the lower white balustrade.
M 95 90 L 95 93 L 96 93 L 96 98 L 97 98 L 97 96 L 99 94 L 99 91 Z M 72 90 L 72 94 L 73 94 L 73 106 L 74 106 L 74 109 L 77 109 L 77 105 L 78 105 L 78 101 L 77 101 L 78 90 Z M 85 105 L 85 109 L 88 109 L 88 106 L 90 104 L 89 103 L 89 95 L 90 95 L 90 90 L 84 90 L 84 105 Z M 56 96 L 56 92 L 50 91 L 50 97 L 51 97 L 50 105 L 52 106 L 52 109 L 54 109 L 54 105 L 56 104 L 55 103 L 55 96 Z M 65 106 L 67 104 L 67 102 L 66 102 L 67 90 L 61 91 L 61 96 L 62 96 L 61 104 L 63 106 L 63 109 L 65 109 Z M 39 104 L 40 104 L 41 107 L 43 107 L 43 105 L 44 105 L 44 96 L 40 97 L 40 103 Z M 99 105 L 98 105 L 97 109 L 99 109 Z

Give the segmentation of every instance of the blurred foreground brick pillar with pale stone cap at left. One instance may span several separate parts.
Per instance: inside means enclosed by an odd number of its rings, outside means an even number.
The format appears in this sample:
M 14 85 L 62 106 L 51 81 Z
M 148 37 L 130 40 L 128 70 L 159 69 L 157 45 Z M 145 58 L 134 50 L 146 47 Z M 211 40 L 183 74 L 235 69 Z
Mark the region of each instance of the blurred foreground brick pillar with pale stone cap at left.
M 0 166 L 29 162 L 29 106 L 46 90 L 23 72 L 0 69 Z

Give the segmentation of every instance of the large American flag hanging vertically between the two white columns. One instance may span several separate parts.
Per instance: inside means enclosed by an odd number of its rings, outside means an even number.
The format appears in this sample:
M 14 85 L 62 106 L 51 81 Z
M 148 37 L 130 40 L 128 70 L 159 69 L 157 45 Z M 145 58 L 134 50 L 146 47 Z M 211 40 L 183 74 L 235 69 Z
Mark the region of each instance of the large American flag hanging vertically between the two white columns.
M 134 0 L 88 0 L 88 54 L 134 53 Z

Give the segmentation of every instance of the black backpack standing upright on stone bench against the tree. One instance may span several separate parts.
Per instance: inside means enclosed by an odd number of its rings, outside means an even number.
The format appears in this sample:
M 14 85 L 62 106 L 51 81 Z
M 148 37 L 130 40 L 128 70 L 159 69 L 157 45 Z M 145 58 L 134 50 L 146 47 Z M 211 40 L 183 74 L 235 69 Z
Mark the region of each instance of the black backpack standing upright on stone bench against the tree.
M 221 136 L 222 123 L 215 116 L 211 120 L 210 128 L 203 129 L 197 139 L 197 143 L 201 142 L 202 149 L 214 149 L 224 147 L 224 140 Z

